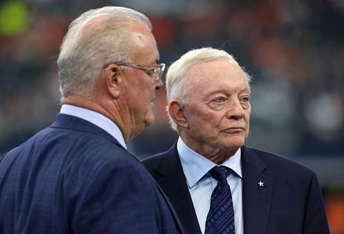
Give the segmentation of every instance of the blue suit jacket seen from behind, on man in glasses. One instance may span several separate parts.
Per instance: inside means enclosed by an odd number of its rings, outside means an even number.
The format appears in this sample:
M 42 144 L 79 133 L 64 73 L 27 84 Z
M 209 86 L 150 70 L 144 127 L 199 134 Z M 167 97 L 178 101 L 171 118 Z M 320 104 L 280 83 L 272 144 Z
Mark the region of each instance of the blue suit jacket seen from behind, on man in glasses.
M 77 117 L 0 162 L 0 233 L 181 233 L 173 212 L 138 159 Z

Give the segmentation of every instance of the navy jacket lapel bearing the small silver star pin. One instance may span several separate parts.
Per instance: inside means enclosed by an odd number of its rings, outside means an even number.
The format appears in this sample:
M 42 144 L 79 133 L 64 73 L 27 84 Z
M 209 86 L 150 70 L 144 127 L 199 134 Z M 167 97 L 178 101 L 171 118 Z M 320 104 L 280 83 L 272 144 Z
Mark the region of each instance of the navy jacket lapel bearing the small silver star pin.
M 263 174 L 266 164 L 245 146 L 241 148 L 243 170 L 244 233 L 265 233 L 274 179 Z M 259 182 L 264 183 L 259 186 Z

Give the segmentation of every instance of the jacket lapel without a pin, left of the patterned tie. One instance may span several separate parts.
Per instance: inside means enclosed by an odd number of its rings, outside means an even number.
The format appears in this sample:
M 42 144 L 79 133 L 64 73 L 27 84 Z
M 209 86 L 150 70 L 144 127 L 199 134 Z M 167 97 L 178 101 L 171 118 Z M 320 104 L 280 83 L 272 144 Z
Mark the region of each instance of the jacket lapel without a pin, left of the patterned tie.
M 177 211 L 185 233 L 201 233 L 176 144 L 161 156 L 153 172 Z

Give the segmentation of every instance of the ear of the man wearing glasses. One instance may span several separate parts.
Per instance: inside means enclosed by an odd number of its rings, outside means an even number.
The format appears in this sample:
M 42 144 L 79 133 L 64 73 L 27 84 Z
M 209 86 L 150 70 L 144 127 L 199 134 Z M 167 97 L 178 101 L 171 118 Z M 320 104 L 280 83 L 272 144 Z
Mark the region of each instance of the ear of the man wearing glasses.
M 106 68 L 105 79 L 109 94 L 114 97 L 114 99 L 118 99 L 118 97 L 120 97 L 122 77 L 120 76 L 120 70 L 117 65 L 111 64 Z

